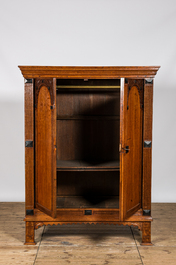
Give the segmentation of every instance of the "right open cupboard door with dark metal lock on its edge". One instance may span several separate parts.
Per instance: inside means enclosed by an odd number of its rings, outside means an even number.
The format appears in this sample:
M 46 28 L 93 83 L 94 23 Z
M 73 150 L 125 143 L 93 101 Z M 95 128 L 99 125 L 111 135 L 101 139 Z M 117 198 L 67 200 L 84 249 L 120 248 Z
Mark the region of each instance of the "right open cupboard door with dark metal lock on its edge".
M 141 208 L 143 79 L 121 79 L 120 218 Z

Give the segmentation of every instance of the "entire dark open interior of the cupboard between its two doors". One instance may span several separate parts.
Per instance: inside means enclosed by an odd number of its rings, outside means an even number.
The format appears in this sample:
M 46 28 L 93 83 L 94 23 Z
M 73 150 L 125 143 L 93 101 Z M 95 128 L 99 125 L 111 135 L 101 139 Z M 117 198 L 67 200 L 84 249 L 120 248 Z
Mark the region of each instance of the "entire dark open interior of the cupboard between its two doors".
M 120 80 L 57 80 L 57 208 L 119 208 Z

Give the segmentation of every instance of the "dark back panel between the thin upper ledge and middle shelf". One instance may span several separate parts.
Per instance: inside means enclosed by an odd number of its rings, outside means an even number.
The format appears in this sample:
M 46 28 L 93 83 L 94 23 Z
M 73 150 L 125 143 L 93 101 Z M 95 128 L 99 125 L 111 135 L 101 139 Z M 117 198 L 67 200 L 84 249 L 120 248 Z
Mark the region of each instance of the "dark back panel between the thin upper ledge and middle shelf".
M 119 160 L 119 122 L 57 120 L 57 159 Z

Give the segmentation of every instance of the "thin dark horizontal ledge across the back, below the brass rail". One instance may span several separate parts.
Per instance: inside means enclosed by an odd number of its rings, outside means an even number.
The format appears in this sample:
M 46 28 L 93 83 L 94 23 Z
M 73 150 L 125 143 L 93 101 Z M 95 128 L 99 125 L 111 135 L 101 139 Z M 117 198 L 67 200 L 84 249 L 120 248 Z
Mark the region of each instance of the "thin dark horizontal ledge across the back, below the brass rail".
M 119 120 L 118 115 L 78 115 L 78 116 L 57 116 L 57 120 Z

